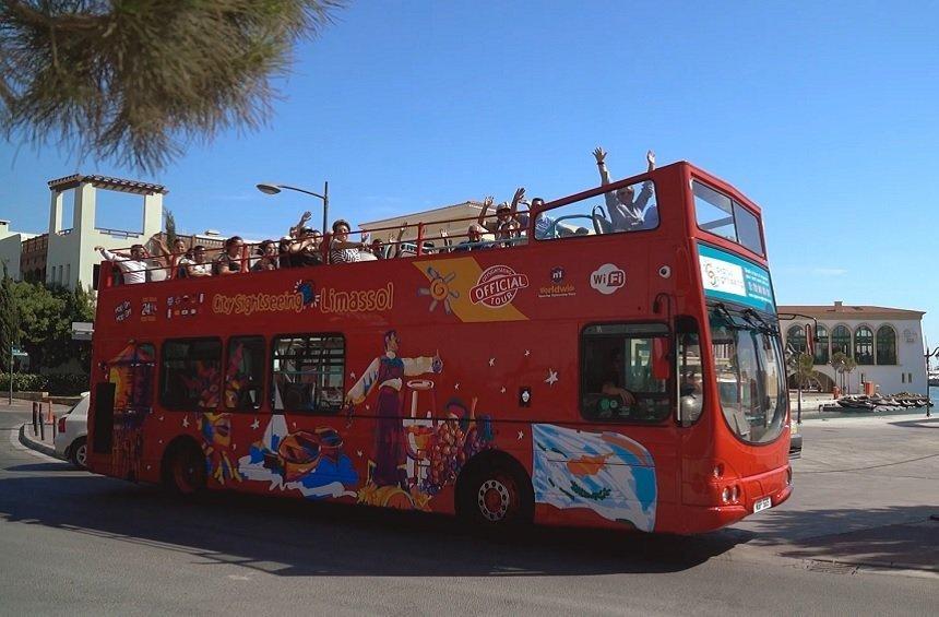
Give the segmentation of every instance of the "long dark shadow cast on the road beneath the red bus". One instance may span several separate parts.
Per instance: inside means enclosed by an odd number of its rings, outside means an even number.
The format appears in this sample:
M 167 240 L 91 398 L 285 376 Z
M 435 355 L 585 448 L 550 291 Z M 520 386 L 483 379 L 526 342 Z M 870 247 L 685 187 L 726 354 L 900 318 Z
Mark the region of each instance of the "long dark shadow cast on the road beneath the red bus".
M 531 527 L 483 537 L 450 517 L 234 494 L 183 501 L 158 487 L 83 473 L 0 479 L 0 520 L 155 545 L 206 566 L 237 563 L 289 577 L 674 572 L 751 536 L 741 531 L 681 537 Z

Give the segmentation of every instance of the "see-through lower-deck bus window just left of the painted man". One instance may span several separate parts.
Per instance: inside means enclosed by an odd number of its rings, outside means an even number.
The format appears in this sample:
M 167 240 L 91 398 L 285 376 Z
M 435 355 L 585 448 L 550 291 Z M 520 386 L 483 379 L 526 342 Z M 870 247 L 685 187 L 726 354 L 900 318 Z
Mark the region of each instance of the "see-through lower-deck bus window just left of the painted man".
M 274 339 L 271 395 L 277 412 L 342 410 L 345 339 L 341 334 L 290 334 Z

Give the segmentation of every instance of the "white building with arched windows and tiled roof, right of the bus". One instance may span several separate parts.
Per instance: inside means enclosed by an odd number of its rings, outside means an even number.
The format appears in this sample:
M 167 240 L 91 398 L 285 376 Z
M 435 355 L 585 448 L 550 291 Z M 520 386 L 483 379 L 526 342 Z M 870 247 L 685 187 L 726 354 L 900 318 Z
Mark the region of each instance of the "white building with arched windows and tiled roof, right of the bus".
M 781 316 L 800 315 L 817 322 L 815 370 L 822 390 L 844 381 L 852 393 L 872 383 L 883 394 L 927 392 L 923 347 L 923 316 L 918 310 L 875 306 L 780 306 Z M 783 319 L 780 327 L 786 346 L 795 352 L 808 348 L 805 317 Z M 840 376 L 831 366 L 832 357 L 843 353 L 854 359 L 853 371 Z

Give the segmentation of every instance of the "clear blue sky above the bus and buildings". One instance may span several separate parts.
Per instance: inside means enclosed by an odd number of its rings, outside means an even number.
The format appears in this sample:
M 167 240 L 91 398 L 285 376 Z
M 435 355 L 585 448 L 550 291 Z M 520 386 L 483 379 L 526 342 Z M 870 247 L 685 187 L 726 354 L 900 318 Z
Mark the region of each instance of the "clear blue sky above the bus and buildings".
M 763 207 L 781 304 L 926 310 L 939 344 L 939 5 L 499 4 L 354 3 L 297 49 L 268 128 L 153 176 L 0 142 L 0 217 L 45 230 L 46 181 L 81 171 L 166 185 L 185 230 L 280 236 L 317 203 L 255 182 L 329 179 L 355 223 L 522 185 L 560 197 L 596 185 L 594 146 L 617 177 L 652 147 Z M 132 226 L 123 210 L 106 226 Z

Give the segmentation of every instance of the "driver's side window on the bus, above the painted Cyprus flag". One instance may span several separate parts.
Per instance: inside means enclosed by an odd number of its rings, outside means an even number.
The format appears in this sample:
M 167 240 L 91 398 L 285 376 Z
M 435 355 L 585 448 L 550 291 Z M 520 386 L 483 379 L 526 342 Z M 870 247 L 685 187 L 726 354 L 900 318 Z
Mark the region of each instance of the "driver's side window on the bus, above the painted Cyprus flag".
M 661 323 L 589 325 L 581 334 L 581 415 L 592 420 L 658 423 L 669 413 L 668 378 L 656 375 Z

